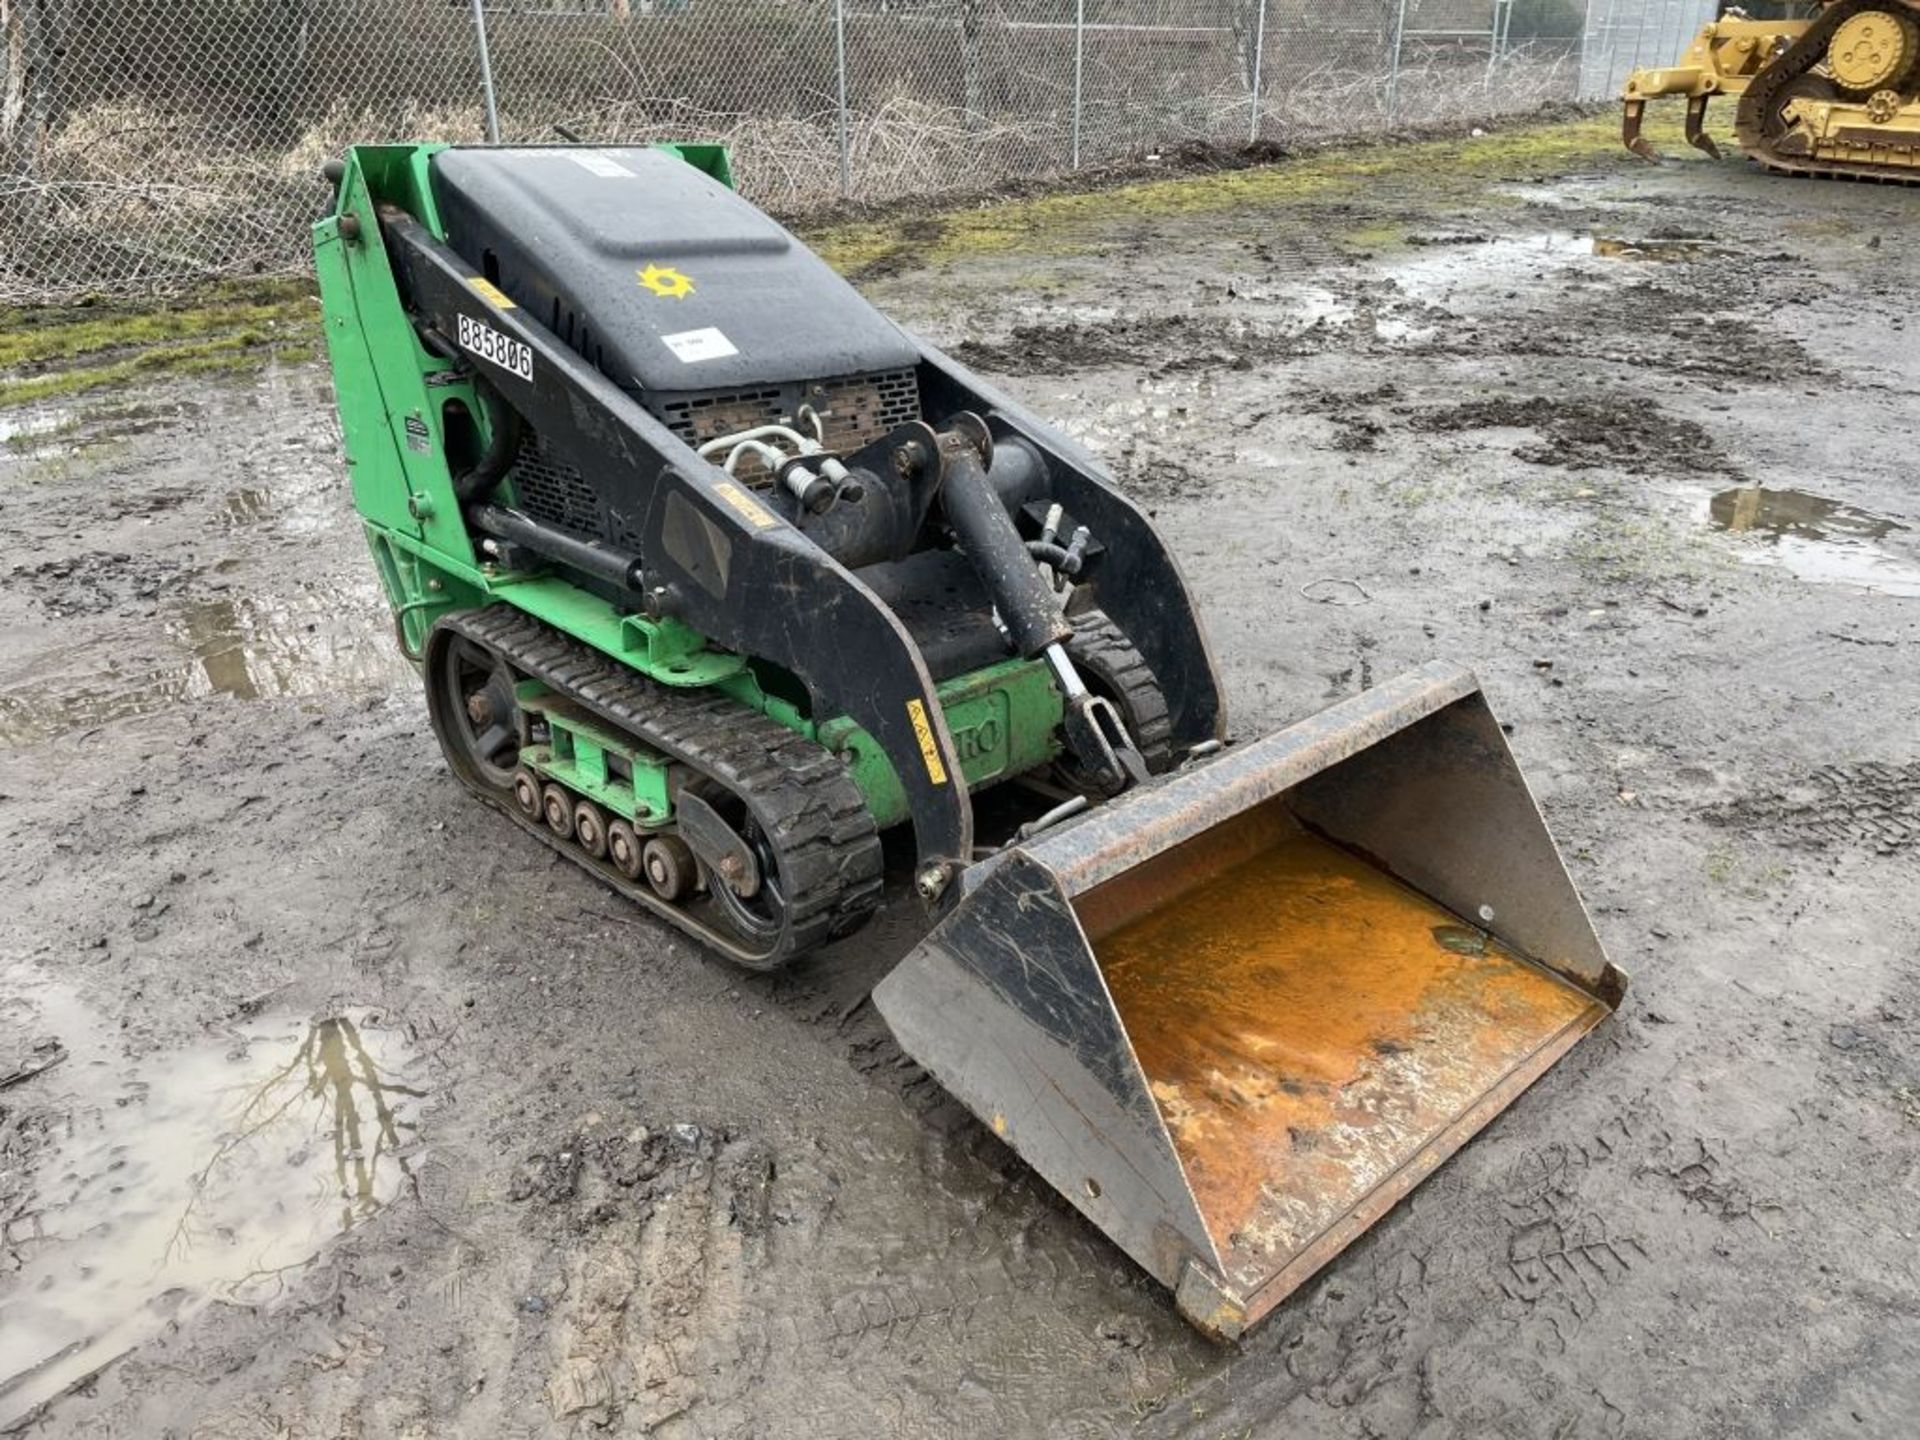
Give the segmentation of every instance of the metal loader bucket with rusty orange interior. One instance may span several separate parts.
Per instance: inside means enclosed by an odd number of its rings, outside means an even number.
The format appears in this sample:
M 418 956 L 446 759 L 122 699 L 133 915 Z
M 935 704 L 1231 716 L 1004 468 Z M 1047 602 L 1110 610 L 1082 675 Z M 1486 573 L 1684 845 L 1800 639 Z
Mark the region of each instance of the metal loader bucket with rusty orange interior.
M 1430 664 L 1002 851 L 874 991 L 1236 1338 L 1626 987 L 1475 678 Z

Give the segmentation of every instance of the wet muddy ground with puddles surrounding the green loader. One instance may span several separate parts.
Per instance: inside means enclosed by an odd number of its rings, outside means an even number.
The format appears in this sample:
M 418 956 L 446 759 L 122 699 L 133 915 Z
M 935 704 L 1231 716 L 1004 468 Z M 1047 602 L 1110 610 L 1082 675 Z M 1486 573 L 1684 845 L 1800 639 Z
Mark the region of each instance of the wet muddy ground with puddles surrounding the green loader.
M 1475 666 L 1634 975 L 1240 1350 L 895 1050 L 904 899 L 745 975 L 463 797 L 321 367 L 0 411 L 0 1427 L 1912 1434 L 1920 200 L 1459 156 L 866 280 L 1158 511 L 1236 735 Z

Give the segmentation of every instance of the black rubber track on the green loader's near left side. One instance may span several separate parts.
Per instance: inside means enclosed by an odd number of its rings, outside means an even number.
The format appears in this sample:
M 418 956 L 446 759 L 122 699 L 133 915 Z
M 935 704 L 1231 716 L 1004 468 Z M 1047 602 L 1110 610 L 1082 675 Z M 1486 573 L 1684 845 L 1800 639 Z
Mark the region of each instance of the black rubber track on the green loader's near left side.
M 595 876 L 614 879 L 655 912 L 762 970 L 854 931 L 879 906 L 883 876 L 874 812 L 845 762 L 822 745 L 728 695 L 660 685 L 511 605 L 467 611 L 442 626 L 499 651 L 530 680 L 745 801 L 778 856 L 789 891 L 787 927 L 770 952 L 747 954 L 730 931 L 636 895 L 637 887 L 620 883 L 607 866 L 568 845 L 572 858 Z M 511 799 L 476 789 L 528 829 L 540 829 Z

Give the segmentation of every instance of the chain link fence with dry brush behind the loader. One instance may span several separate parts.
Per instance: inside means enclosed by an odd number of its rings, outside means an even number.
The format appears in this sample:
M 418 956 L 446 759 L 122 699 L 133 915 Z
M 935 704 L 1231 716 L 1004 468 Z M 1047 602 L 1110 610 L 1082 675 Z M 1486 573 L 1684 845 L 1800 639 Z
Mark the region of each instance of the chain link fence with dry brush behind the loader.
M 1701 0 L 0 0 L 0 300 L 298 273 L 357 140 L 722 140 L 780 213 L 1611 94 Z

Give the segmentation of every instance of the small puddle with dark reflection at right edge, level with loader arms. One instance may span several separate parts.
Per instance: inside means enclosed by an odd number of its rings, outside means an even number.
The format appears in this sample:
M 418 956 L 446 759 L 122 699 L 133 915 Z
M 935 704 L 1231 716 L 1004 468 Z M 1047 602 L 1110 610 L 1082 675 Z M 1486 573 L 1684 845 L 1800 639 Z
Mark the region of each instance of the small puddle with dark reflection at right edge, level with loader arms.
M 1740 486 L 1707 499 L 1703 520 L 1740 536 L 1743 561 L 1780 564 L 1816 584 L 1920 597 L 1920 561 L 1880 543 L 1907 526 L 1884 515 L 1805 490 Z

